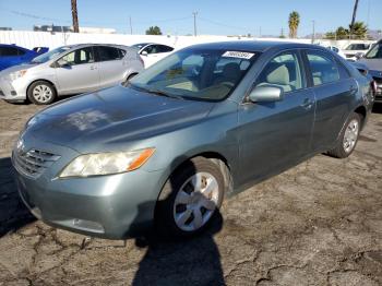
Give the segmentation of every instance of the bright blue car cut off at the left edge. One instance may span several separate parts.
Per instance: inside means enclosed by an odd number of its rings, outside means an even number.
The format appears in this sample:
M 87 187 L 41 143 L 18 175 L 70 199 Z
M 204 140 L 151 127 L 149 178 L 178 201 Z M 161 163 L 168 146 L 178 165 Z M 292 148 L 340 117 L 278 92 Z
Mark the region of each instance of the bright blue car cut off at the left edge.
M 16 45 L 0 44 L 0 71 L 23 62 L 29 62 L 37 56 L 47 52 L 46 47 L 34 48 L 33 50 Z

